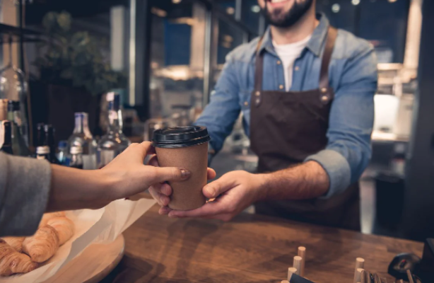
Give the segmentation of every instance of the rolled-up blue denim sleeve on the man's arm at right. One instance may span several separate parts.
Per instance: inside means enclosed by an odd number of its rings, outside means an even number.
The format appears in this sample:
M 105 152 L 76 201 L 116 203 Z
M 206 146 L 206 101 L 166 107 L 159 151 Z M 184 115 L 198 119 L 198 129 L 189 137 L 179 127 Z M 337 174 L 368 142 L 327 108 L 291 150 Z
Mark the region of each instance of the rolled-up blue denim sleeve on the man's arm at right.
M 346 190 L 368 166 L 375 91 L 377 59 L 373 47 L 366 43 L 348 59 L 342 72 L 330 110 L 326 149 L 305 160 L 317 161 L 329 175 L 329 191 L 324 198 Z

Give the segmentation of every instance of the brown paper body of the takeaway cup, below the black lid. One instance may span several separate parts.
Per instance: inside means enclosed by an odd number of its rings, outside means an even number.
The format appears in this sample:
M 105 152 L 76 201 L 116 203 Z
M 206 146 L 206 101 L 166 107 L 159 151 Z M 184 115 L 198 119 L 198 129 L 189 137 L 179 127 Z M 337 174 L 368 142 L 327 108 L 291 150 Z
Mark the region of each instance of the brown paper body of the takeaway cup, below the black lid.
M 178 167 L 189 170 L 187 180 L 170 182 L 173 192 L 169 207 L 177 210 L 197 209 L 205 204 L 202 188 L 206 185 L 208 168 L 208 142 L 174 149 L 156 147 L 161 167 Z

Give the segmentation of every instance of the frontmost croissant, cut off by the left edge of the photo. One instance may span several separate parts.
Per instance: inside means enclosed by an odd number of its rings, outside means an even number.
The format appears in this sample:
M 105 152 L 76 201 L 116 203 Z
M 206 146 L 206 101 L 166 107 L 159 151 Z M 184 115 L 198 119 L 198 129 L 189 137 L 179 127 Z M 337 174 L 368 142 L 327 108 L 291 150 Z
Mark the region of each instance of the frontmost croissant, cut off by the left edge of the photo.
M 9 276 L 14 273 L 27 273 L 37 268 L 37 263 L 27 255 L 18 253 L 5 241 L 0 239 L 0 275 Z

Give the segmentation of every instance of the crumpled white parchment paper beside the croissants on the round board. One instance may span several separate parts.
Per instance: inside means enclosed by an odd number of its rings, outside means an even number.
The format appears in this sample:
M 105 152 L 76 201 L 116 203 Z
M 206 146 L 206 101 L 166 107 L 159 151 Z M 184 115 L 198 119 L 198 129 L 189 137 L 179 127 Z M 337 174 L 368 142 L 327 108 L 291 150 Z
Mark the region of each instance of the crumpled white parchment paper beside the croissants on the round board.
M 57 270 L 80 255 L 92 243 L 111 243 L 156 202 L 117 200 L 102 209 L 81 209 L 66 212 L 74 224 L 74 236 L 57 250 L 52 258 L 24 275 L 0 277 L 0 283 L 38 283 L 52 277 Z

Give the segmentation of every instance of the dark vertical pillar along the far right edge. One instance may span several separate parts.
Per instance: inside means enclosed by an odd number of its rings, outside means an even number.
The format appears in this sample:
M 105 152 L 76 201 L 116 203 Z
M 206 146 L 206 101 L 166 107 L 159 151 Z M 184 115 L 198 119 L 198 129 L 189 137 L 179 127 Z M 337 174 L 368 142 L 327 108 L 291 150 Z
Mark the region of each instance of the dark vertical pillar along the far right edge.
M 434 238 L 434 1 L 423 1 L 414 132 L 407 171 L 404 233 Z

